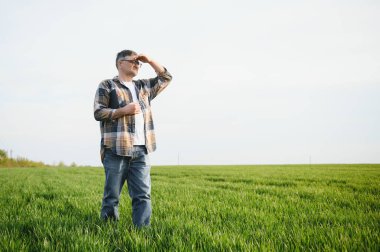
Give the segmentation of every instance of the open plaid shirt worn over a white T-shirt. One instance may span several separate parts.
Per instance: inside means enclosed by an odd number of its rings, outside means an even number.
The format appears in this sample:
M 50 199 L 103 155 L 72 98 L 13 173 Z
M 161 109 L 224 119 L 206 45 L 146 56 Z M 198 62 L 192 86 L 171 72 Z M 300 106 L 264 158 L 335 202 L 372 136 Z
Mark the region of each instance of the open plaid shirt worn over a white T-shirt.
M 133 80 L 141 111 L 144 115 L 145 147 L 148 152 L 156 150 L 156 139 L 150 102 L 166 88 L 172 76 L 165 69 L 152 79 Z M 120 156 L 132 156 L 135 117 L 122 116 L 112 120 L 112 114 L 118 108 L 133 102 L 132 94 L 121 84 L 118 76 L 104 80 L 99 84 L 94 101 L 94 117 L 100 121 L 100 155 L 103 162 L 104 149 L 110 148 Z

